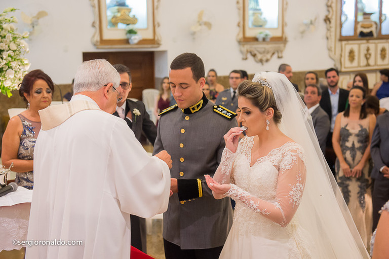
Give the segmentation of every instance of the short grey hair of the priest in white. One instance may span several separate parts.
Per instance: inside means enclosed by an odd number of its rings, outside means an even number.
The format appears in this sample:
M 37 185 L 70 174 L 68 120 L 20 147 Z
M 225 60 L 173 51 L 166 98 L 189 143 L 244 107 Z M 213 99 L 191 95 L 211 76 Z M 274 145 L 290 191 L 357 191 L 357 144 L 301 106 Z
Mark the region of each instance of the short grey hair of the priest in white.
M 120 84 L 118 71 L 105 59 L 84 61 L 74 76 L 74 93 L 95 92 L 112 83 L 114 88 Z

